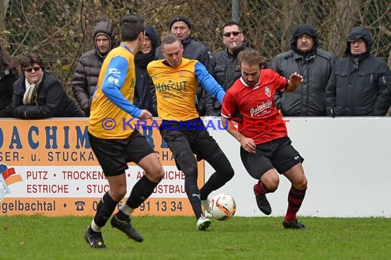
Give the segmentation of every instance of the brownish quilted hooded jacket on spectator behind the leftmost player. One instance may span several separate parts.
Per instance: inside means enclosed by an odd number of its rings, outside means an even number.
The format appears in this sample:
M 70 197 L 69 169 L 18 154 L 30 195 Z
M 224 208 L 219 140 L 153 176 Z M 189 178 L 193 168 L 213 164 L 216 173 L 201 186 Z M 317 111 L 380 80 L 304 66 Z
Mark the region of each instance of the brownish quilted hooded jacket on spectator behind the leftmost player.
M 97 48 L 96 38 L 102 34 L 110 40 L 110 47 L 107 53 L 100 53 Z M 93 39 L 94 47 L 90 51 L 83 53 L 82 57 L 80 57 L 72 83 L 73 96 L 75 96 L 80 108 L 87 116 L 90 114 L 90 105 L 104 57 L 115 46 L 115 34 L 111 23 L 97 23 L 94 29 Z

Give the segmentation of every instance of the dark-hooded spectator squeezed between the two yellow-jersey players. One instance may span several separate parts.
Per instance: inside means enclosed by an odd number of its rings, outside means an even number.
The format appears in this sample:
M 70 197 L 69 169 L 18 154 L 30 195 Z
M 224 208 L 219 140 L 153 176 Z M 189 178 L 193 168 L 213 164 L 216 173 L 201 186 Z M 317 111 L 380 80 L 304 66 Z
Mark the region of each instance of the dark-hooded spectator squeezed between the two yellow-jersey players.
M 152 26 L 145 26 L 145 37 L 141 51 L 134 56 L 136 65 L 136 88 L 134 89 L 134 105 L 140 109 L 147 109 L 152 116 L 158 116 L 150 86 L 152 79 L 147 72 L 147 65 L 154 60 L 158 36 Z

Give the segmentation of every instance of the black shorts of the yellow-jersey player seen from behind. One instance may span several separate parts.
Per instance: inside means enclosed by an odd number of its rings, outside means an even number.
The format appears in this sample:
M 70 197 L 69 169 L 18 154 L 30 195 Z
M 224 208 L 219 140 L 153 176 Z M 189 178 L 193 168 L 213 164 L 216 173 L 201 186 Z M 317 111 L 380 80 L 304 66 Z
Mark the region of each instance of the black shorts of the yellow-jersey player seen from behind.
M 123 174 L 128 169 L 128 162 L 137 164 L 145 156 L 154 153 L 154 149 L 137 130 L 126 139 L 102 139 L 89 132 L 88 138 L 106 177 Z

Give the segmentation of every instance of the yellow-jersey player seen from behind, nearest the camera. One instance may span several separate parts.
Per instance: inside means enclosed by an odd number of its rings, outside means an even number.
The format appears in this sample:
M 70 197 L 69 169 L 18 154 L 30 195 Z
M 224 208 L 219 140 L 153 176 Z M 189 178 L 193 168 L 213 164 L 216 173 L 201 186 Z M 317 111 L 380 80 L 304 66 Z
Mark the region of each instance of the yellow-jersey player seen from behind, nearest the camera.
M 120 24 L 121 44 L 108 53 L 99 74 L 91 104 L 88 138 L 104 171 L 110 190 L 97 205 L 97 212 L 85 239 L 92 248 L 104 248 L 102 227 L 126 195 L 128 162 L 134 161 L 145 171 L 132 188 L 126 203 L 111 218 L 116 229 L 142 242 L 143 237 L 130 224 L 130 214 L 147 199 L 163 179 L 163 167 L 147 140 L 135 127 L 121 125 L 131 117 L 152 119 L 152 114 L 130 101 L 134 98 L 134 54 L 141 49 L 144 25 L 137 16 L 125 16 Z

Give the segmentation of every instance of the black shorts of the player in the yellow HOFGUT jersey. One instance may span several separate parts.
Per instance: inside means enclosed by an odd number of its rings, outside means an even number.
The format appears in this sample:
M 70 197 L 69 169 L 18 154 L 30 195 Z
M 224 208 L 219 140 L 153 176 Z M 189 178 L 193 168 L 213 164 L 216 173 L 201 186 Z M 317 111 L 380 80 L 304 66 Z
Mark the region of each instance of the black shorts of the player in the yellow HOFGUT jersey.
M 211 155 L 218 147 L 201 118 L 183 122 L 163 120 L 160 132 L 175 158 L 182 152 L 191 151 L 200 161 Z

